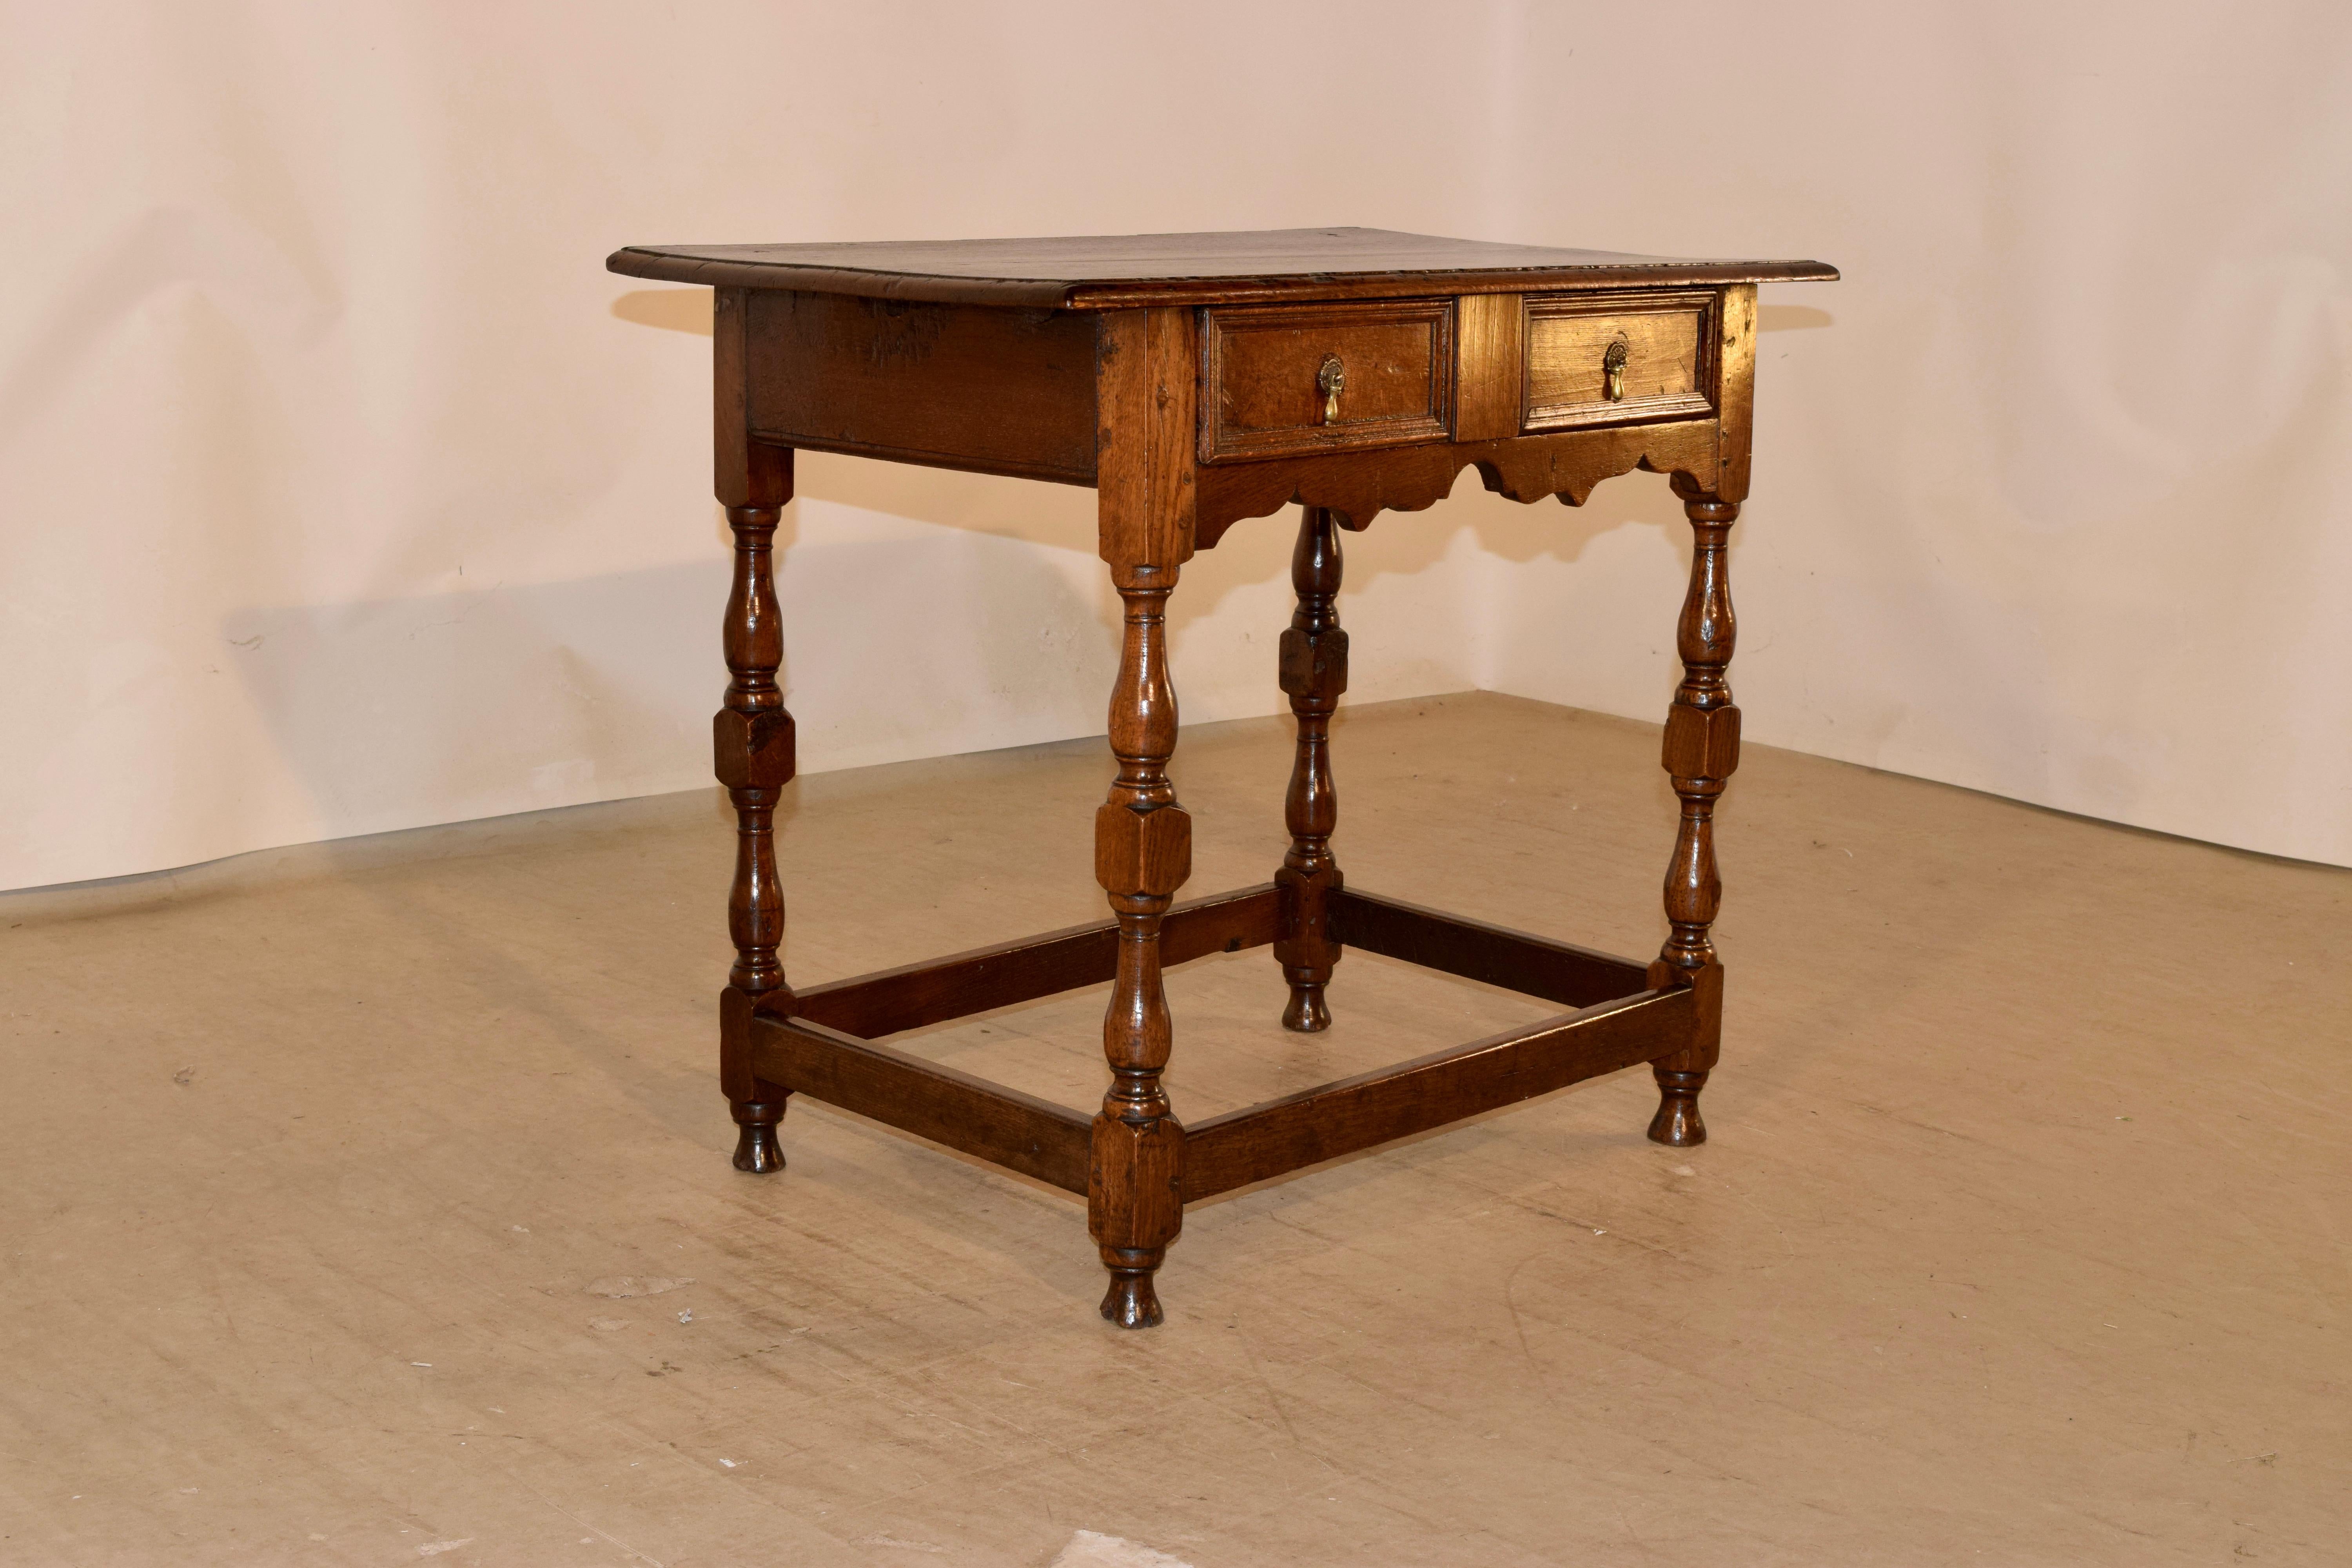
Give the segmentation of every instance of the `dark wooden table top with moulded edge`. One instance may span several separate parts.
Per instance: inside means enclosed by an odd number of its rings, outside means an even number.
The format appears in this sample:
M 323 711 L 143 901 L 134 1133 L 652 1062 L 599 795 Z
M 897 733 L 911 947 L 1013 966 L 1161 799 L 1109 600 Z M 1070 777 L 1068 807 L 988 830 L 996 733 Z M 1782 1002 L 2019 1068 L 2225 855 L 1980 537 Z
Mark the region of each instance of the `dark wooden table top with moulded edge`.
M 1388 228 L 1261 228 L 1068 240 L 630 244 L 614 252 L 604 266 L 630 277 L 729 289 L 800 289 L 1049 310 L 1837 277 L 1837 268 L 1820 261 L 1691 261 L 1444 240 Z

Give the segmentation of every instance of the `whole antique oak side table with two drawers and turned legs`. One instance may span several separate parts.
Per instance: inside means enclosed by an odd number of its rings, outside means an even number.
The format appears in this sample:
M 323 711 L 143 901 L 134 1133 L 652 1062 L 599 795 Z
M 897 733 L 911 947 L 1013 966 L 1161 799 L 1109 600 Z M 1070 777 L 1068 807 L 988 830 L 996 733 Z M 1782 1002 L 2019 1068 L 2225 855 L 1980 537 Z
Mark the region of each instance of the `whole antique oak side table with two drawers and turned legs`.
M 717 498 L 734 527 L 717 778 L 739 853 L 720 997 L 720 1088 L 739 1171 L 781 1171 L 786 1098 L 964 1150 L 1087 1197 L 1110 1269 L 1103 1316 L 1160 1321 L 1152 1272 L 1188 1201 L 1649 1063 L 1649 1135 L 1696 1145 L 1722 1037 L 1715 797 L 1738 762 L 1724 545 L 1748 494 L 1757 282 L 1835 280 L 1818 261 L 1672 261 L 1371 228 L 1096 240 L 628 247 L 614 273 L 710 284 Z M 1127 607 L 1110 693 L 1117 778 L 1094 813 L 1112 917 L 887 973 L 786 985 L 771 816 L 793 715 L 769 545 L 793 451 L 1089 484 Z M 1665 719 L 1682 830 L 1670 936 L 1649 964 L 1345 884 L 1331 856 L 1329 724 L 1348 686 L 1336 529 L 1421 510 L 1475 465 L 1512 501 L 1581 505 L 1595 484 L 1670 475 L 1696 531 Z M 1169 785 L 1176 693 L 1164 609 L 1183 562 L 1244 517 L 1301 503 L 1279 684 L 1298 717 L 1272 882 L 1174 903 L 1192 823 Z M 1468 976 L 1566 1011 L 1322 1088 L 1178 1124 L 1162 1091 L 1167 964 L 1275 950 L 1284 1027 L 1322 1030 L 1345 947 Z M 950 1018 L 1110 983 L 1110 1088 L 1091 1119 L 882 1044 Z

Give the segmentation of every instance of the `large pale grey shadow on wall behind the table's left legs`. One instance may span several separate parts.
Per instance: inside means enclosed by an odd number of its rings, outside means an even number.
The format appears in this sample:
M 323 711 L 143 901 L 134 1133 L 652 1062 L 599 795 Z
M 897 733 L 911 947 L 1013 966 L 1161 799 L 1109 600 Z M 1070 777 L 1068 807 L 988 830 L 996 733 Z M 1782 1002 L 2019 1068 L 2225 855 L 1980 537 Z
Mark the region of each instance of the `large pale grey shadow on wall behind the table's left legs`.
M 779 581 L 807 771 L 1058 741 L 1094 715 L 1115 639 L 1011 541 L 809 541 Z M 922 614 L 877 614 L 873 583 Z M 727 684 L 713 557 L 569 583 L 252 607 L 221 628 L 287 769 L 343 832 L 710 783 Z M 981 590 L 985 588 L 985 590 Z M 826 682 L 790 679 L 818 649 Z M 847 675 L 847 679 L 844 679 Z

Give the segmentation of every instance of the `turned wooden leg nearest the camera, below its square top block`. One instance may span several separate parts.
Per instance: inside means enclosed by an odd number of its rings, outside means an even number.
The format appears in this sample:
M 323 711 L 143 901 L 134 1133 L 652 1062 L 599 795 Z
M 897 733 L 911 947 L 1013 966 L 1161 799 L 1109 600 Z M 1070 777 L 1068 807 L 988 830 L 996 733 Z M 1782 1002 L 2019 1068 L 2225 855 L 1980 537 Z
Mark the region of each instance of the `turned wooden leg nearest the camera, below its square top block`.
M 1169 1065 L 1169 1004 L 1160 990 L 1160 919 L 1192 875 L 1192 818 L 1176 804 L 1176 689 L 1167 670 L 1174 567 L 1115 567 L 1127 604 L 1110 750 L 1120 776 L 1094 813 L 1094 877 L 1120 919 L 1120 976 L 1103 1016 L 1110 1091 L 1094 1117 L 1087 1229 L 1103 1251 L 1103 1316 L 1122 1328 L 1160 1321 L 1152 1272 L 1183 1225 L 1183 1128 L 1160 1072 Z

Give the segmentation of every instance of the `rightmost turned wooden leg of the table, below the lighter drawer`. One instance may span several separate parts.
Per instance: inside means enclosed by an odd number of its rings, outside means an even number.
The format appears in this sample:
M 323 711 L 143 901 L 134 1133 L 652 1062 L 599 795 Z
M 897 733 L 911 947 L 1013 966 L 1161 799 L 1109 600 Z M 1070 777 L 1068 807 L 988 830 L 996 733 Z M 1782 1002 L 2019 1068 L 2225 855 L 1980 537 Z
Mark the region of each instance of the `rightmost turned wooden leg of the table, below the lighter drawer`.
M 1738 623 L 1731 614 L 1731 524 L 1740 508 L 1675 477 L 1675 494 L 1691 520 L 1696 552 L 1691 590 L 1682 599 L 1682 623 L 1675 649 L 1682 654 L 1682 684 L 1665 715 L 1665 771 L 1682 797 L 1682 830 L 1675 835 L 1675 858 L 1665 867 L 1665 919 L 1672 926 L 1658 961 L 1649 966 L 1651 987 L 1689 985 L 1698 1001 L 1698 1030 L 1689 1048 L 1651 1063 L 1658 1077 L 1658 1114 L 1649 1124 L 1656 1143 L 1689 1147 L 1708 1140 L 1698 1119 L 1698 1091 L 1722 1048 L 1724 966 L 1715 957 L 1708 926 L 1724 898 L 1715 870 L 1715 799 L 1740 764 L 1740 710 L 1731 705 L 1731 644 Z

